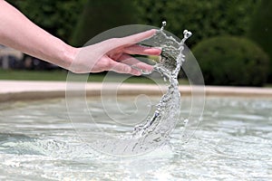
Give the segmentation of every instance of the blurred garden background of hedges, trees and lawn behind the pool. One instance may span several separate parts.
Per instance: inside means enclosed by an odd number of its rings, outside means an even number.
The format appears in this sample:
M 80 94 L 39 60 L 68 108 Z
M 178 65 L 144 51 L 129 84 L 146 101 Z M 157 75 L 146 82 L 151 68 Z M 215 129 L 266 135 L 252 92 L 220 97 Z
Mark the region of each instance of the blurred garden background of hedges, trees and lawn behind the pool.
M 187 45 L 208 85 L 272 85 L 272 1 L 270 0 L 8 0 L 49 33 L 82 46 L 98 33 L 125 24 L 148 24 Z M 24 27 L 22 27 L 24 28 Z M 102 73 L 94 81 L 102 81 Z M 180 76 L 182 78 L 182 76 Z M 0 46 L 1 80 L 65 81 L 53 64 Z M 144 78 L 135 78 L 144 80 Z M 148 81 L 147 81 L 148 82 Z

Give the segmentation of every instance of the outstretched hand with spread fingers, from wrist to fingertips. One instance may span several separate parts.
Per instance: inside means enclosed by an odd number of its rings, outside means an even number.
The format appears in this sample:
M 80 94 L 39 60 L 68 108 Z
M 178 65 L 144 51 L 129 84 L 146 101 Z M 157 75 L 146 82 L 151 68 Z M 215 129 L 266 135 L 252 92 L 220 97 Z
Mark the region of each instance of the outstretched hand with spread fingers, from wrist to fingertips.
M 159 48 L 144 47 L 135 43 L 150 38 L 156 30 L 137 33 L 123 38 L 112 38 L 102 43 L 78 48 L 74 53 L 70 71 L 75 73 L 116 71 L 141 75 L 141 71 L 152 71 L 153 67 L 133 58 L 131 54 L 160 55 Z M 136 69 L 134 69 L 136 67 Z

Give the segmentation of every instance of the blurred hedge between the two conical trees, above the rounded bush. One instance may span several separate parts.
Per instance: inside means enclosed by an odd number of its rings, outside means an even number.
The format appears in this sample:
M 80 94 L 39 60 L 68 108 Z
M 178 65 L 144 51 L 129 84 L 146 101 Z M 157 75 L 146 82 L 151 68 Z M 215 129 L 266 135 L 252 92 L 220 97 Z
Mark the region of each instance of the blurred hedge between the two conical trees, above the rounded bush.
M 183 30 L 193 33 L 189 45 L 223 34 L 244 35 L 251 14 L 259 0 L 135 0 L 140 9 L 141 24 L 160 26 L 182 37 Z

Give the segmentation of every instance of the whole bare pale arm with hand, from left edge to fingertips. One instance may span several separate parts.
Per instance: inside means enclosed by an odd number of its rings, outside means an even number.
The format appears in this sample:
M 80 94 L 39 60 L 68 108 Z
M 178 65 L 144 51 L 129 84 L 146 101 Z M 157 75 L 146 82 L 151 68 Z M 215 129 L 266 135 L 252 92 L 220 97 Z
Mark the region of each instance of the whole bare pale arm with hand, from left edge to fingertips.
M 138 61 L 131 57 L 131 54 L 160 55 L 159 48 L 136 44 L 155 33 L 156 30 L 150 30 L 75 48 L 45 32 L 15 7 L 0 0 L 0 44 L 75 73 L 117 71 L 141 75 L 140 70 L 152 71 L 151 65 Z

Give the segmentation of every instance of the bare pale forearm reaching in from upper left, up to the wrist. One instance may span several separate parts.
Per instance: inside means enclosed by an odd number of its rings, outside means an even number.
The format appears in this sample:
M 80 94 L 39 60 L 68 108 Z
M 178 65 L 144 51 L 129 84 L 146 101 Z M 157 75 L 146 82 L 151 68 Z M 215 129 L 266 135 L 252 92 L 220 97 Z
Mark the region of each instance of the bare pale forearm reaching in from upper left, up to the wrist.
M 0 0 L 0 43 L 67 69 L 76 49 L 29 21 Z

